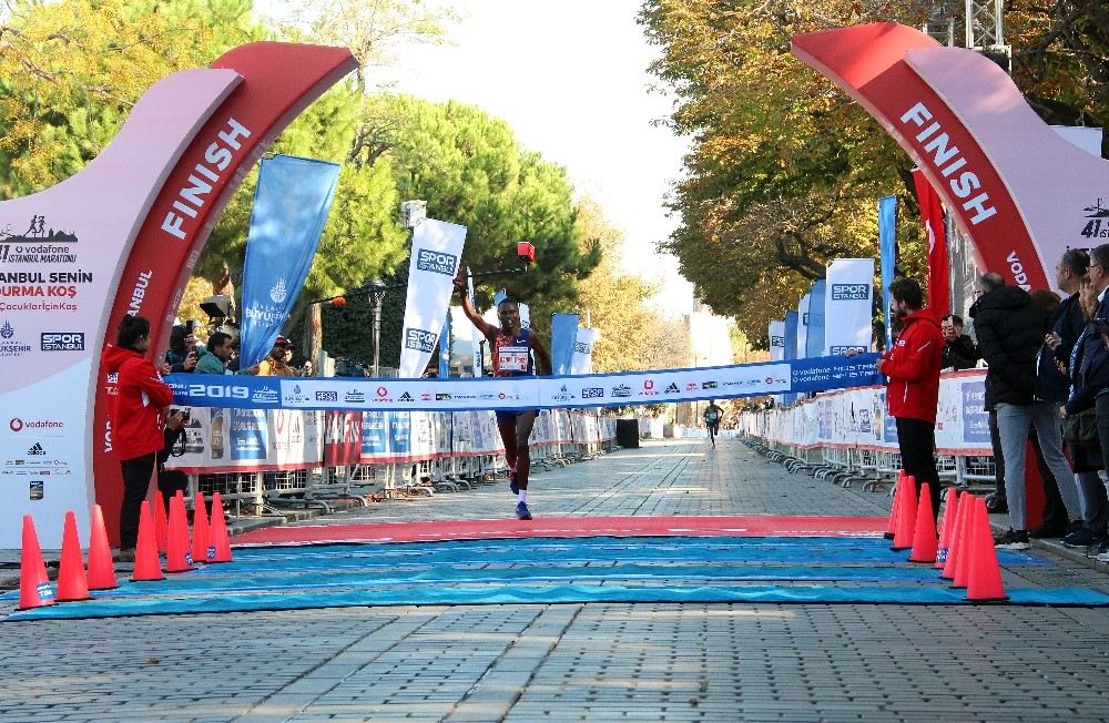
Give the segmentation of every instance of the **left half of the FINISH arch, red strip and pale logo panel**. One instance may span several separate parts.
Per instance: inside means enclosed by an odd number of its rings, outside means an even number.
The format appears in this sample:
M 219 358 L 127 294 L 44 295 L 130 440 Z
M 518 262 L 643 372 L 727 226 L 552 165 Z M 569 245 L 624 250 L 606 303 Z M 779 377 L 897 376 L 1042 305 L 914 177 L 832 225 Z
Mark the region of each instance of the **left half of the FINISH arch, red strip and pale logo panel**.
M 243 45 L 151 88 L 73 177 L 0 203 L 0 548 L 19 546 L 22 515 L 48 549 L 65 510 L 84 534 L 93 501 L 116 534 L 122 482 L 100 350 L 124 314 L 150 318 L 161 346 L 242 179 L 356 65 L 343 48 Z

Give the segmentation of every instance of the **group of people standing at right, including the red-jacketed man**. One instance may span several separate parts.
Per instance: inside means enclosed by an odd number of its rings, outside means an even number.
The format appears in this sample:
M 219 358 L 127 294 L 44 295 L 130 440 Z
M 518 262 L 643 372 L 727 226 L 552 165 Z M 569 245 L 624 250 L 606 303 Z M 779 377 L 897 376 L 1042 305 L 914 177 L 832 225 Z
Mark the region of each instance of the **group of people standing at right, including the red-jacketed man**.
M 997 469 L 987 507 L 1009 517 L 1009 529 L 995 544 L 1022 550 L 1030 547 L 1031 538 L 1061 538 L 1062 544 L 1086 548 L 1109 562 L 1105 476 L 1109 468 L 1109 244 L 1089 254 L 1067 251 L 1055 271 L 1055 288 L 1065 297 L 1007 285 L 995 272 L 983 274 L 969 308 L 975 338 L 964 333 L 962 317 L 945 316 L 939 325 L 939 366 L 955 370 L 986 366 L 985 406 Z M 928 329 L 926 324 L 913 325 L 920 313 L 915 289 L 915 282 L 906 284 L 906 279 L 891 287 L 892 310 L 901 317 L 902 332 L 878 368 L 889 377 L 891 389 L 902 389 L 901 396 L 887 394 L 887 398 L 889 414 L 898 422 L 903 464 L 910 460 L 918 475 L 934 479 L 923 461 L 934 452 L 934 413 L 923 414 L 920 405 L 894 404 L 914 397 L 927 401 L 938 387 L 936 362 L 927 350 L 933 332 L 913 332 Z M 903 426 L 908 435 L 902 434 Z M 1036 516 L 1027 509 L 1025 479 L 1029 448 L 1045 499 L 1040 522 L 1031 528 L 1028 520 Z

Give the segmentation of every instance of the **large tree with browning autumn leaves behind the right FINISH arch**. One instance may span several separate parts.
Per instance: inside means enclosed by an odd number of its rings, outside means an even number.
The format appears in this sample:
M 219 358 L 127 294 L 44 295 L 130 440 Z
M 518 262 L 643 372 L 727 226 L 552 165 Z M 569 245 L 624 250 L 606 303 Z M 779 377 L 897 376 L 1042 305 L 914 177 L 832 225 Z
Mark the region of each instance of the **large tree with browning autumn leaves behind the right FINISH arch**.
M 875 203 L 897 194 L 904 274 L 923 276 L 909 159 L 875 121 L 793 58 L 802 32 L 896 20 L 919 27 L 935 3 L 854 0 L 647 0 L 640 22 L 663 54 L 675 132 L 693 136 L 661 247 L 696 295 L 752 339 L 836 256 L 874 256 Z M 1105 124 L 1109 9 L 1099 0 L 1006 3 L 1018 86 L 1050 122 Z M 1107 142 L 1109 149 L 1109 142 Z M 1109 155 L 1109 154 L 1107 154 Z

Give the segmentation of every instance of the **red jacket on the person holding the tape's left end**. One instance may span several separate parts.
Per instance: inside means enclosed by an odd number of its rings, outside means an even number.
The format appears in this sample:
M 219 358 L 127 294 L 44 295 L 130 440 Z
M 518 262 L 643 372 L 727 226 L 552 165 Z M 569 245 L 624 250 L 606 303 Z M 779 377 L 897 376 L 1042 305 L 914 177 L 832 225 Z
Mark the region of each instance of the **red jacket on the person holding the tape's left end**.
M 112 455 L 128 460 L 156 452 L 163 446 L 159 410 L 173 401 L 173 389 L 162 381 L 154 365 L 134 349 L 109 344 L 101 364 L 109 375 Z

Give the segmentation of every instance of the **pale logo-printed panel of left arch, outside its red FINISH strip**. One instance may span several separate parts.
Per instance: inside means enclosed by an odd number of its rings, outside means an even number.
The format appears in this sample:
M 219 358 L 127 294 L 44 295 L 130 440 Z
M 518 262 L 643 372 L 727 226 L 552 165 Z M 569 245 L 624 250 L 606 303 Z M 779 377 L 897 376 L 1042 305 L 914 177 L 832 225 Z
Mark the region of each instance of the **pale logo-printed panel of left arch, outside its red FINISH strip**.
M 0 202 L 0 471 L 12 472 L 0 477 L 0 549 L 19 548 L 23 515 L 44 547 L 60 543 L 68 510 L 89 529 L 99 479 L 89 460 L 111 434 L 106 426 L 90 431 L 92 366 L 105 333 L 114 339 L 108 307 L 143 293 L 138 283 L 119 288 L 123 261 L 169 169 L 240 82 L 231 71 L 175 73 L 143 94 L 94 163 L 62 184 Z M 50 441 L 60 429 L 64 445 Z M 44 455 L 29 454 L 35 444 Z M 110 465 L 118 479 L 119 462 Z M 109 507 L 114 532 L 119 505 Z

